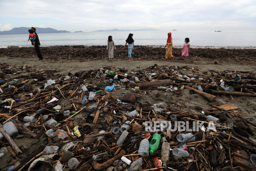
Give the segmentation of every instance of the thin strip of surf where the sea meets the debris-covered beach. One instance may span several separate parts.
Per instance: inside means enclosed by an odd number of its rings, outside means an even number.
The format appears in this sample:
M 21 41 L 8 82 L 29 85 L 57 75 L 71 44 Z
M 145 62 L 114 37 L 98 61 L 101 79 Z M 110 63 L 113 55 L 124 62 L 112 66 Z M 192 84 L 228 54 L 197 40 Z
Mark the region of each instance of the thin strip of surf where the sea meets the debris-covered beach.
M 116 47 L 124 47 L 124 45 L 116 45 Z M 28 46 L 0 46 L 1 48 L 22 48 L 22 47 L 32 47 L 31 45 Z M 71 47 L 71 48 L 89 48 L 89 47 L 107 47 L 106 45 L 54 45 L 54 46 L 40 46 L 40 47 Z M 153 47 L 153 48 L 163 48 L 164 45 L 134 45 L 134 47 Z M 256 46 L 190 46 L 191 48 L 195 49 L 256 49 Z M 173 48 L 183 48 L 183 45 L 173 46 Z

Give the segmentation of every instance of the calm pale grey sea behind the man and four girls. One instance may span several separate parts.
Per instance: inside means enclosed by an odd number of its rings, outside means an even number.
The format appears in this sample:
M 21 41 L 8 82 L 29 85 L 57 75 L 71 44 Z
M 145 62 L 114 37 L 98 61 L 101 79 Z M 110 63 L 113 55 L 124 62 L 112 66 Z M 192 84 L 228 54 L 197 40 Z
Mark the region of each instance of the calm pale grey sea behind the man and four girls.
M 171 30 L 170 30 L 171 31 Z M 84 33 L 40 34 L 41 46 L 106 46 L 108 36 L 113 37 L 115 45 L 125 45 L 129 33 L 134 34 L 134 45 L 164 47 L 170 31 L 112 31 Z M 183 47 L 184 39 L 189 38 L 191 47 L 200 48 L 252 48 L 256 49 L 256 31 L 171 31 L 173 46 Z M 32 47 L 27 41 L 28 34 L 0 35 L 0 48 Z

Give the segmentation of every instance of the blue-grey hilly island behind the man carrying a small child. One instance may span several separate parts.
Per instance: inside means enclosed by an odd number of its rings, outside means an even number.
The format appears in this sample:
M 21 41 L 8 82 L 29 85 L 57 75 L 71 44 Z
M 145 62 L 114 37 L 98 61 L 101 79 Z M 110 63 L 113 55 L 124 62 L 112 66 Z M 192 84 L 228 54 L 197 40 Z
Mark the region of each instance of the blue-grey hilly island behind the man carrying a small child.
M 13 28 L 12 30 L 9 31 L 0 31 L 0 35 L 5 35 L 5 34 L 29 34 L 28 30 L 31 29 L 31 27 L 18 27 L 18 28 Z M 71 33 L 70 31 L 66 30 L 56 30 L 52 28 L 39 28 L 35 27 L 36 33 L 42 34 L 42 33 Z

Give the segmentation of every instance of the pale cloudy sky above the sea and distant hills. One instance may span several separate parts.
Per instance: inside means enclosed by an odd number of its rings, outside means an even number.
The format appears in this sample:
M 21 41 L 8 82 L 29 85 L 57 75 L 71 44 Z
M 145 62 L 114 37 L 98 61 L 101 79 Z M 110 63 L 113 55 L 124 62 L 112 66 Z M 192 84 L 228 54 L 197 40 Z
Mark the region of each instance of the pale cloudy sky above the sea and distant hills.
M 0 0 L 0 31 L 256 30 L 255 0 Z

